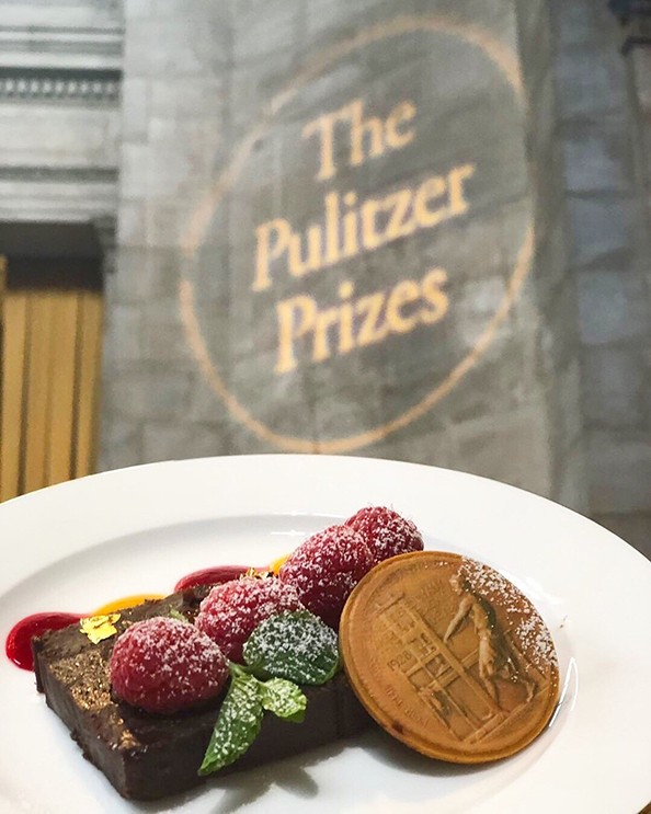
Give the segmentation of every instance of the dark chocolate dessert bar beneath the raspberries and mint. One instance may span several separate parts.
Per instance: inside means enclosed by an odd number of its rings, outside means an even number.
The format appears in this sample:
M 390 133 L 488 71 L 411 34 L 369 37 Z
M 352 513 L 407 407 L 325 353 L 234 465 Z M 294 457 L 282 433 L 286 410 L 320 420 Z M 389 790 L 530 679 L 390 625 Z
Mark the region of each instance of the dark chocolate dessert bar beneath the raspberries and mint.
M 204 782 L 197 770 L 224 695 L 201 708 L 170 715 L 130 707 L 112 695 L 108 662 L 113 645 L 133 622 L 174 614 L 194 618 L 205 593 L 190 589 L 121 610 L 115 621 L 117 634 L 96 644 L 79 624 L 33 641 L 37 689 L 69 727 L 84 756 L 127 799 L 157 800 Z M 308 699 L 302 723 L 266 715 L 249 752 L 213 777 L 356 735 L 372 723 L 343 673 L 323 686 L 302 690 Z

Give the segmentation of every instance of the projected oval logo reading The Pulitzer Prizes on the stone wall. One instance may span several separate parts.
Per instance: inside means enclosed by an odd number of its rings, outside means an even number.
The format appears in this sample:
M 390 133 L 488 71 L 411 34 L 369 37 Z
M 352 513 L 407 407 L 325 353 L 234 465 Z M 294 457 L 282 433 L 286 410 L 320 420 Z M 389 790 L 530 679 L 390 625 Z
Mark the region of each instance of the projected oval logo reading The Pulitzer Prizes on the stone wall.
M 430 16 L 333 45 L 271 100 L 183 245 L 189 343 L 237 421 L 350 451 L 460 381 L 530 265 L 523 104 L 505 46 Z

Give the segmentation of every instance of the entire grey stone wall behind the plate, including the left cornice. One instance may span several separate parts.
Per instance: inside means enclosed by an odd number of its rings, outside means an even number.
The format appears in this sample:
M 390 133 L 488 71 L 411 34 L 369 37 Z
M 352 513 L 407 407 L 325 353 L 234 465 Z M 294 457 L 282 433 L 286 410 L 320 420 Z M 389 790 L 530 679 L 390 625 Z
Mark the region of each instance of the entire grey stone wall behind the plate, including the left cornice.
M 0 218 L 91 219 L 108 242 L 119 222 L 101 467 L 339 442 L 525 486 L 650 553 L 651 62 L 621 56 L 606 3 L 122 7 L 0 2 Z M 369 27 L 432 15 L 447 33 L 336 53 Z M 385 122 L 414 102 L 414 138 L 345 167 L 338 137 L 338 174 L 318 181 L 317 137 L 301 128 L 353 98 Z M 276 261 L 269 289 L 252 290 L 261 223 L 309 228 L 328 192 L 361 204 L 464 162 L 476 167 L 467 211 L 302 277 Z M 514 285 L 532 218 L 534 260 Z M 362 347 L 336 334 L 359 296 L 437 267 L 447 309 L 433 323 L 398 321 L 402 332 Z M 336 311 L 330 356 L 311 358 L 307 331 L 278 375 L 278 307 L 299 295 Z

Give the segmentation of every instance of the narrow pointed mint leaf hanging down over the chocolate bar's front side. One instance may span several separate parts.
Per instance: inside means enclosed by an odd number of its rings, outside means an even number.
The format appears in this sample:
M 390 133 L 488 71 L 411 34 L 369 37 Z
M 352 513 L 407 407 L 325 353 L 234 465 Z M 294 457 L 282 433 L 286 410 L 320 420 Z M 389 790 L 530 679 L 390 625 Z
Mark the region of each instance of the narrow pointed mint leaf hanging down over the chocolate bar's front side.
M 230 766 L 256 738 L 263 715 L 260 686 L 254 676 L 247 675 L 243 670 L 233 675 L 199 767 L 199 775 L 209 775 Z

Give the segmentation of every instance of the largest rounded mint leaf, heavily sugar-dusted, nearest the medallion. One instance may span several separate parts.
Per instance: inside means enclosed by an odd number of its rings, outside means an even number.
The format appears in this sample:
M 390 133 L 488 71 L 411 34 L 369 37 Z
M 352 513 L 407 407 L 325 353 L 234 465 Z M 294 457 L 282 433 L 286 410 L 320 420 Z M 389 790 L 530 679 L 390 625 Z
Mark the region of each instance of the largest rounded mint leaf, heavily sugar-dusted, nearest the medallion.
M 269 617 L 251 633 L 243 652 L 256 675 L 295 684 L 326 684 L 340 668 L 336 633 L 308 610 Z

